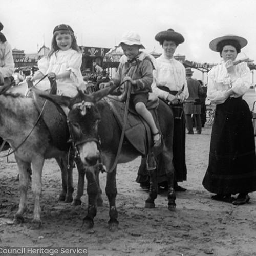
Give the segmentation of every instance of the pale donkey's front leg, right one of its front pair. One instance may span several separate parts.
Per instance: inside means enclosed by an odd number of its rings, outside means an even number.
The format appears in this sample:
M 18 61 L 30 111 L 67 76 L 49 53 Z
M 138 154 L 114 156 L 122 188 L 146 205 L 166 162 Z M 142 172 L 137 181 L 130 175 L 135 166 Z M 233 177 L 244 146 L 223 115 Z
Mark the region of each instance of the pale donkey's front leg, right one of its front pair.
M 42 186 L 42 167 L 44 166 L 44 157 L 37 156 L 32 160 L 32 192 L 34 195 L 34 218 L 32 220 L 34 228 L 41 227 L 41 207 L 40 196 Z

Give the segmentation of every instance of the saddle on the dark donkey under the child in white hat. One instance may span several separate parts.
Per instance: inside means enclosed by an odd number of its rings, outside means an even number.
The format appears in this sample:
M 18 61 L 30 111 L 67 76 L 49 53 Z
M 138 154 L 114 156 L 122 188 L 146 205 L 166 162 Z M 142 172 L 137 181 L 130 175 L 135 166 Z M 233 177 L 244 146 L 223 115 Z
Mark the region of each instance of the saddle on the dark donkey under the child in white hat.
M 124 123 L 125 103 L 111 95 L 105 97 L 104 100 L 110 105 L 110 108 L 120 126 L 120 129 L 122 129 Z M 158 106 L 158 98 L 156 98 L 156 100 L 157 103 L 155 102 L 153 104 L 150 102 L 154 108 L 149 108 L 149 110 L 153 115 L 157 127 L 159 128 L 156 111 L 156 106 Z M 127 116 L 127 124 L 125 127 L 125 137 L 136 148 L 136 150 L 141 153 L 142 156 L 147 156 L 148 152 L 152 150 L 153 141 L 150 126 L 136 113 L 134 109 L 130 107 Z M 154 154 L 158 155 L 162 150 L 163 143 L 161 143 L 160 148 L 154 148 Z

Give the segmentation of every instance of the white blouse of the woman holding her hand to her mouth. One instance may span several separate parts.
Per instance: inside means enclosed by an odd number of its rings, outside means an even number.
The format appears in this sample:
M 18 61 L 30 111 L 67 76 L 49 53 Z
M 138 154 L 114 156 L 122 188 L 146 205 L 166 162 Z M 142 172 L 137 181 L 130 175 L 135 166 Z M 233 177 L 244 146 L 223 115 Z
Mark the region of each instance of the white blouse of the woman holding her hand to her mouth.
M 214 66 L 208 73 L 207 97 L 214 104 L 222 104 L 229 97 L 227 91 L 232 88 L 230 97 L 243 96 L 250 88 L 250 69 L 242 62 L 234 66 L 234 73 L 227 72 L 224 61 Z

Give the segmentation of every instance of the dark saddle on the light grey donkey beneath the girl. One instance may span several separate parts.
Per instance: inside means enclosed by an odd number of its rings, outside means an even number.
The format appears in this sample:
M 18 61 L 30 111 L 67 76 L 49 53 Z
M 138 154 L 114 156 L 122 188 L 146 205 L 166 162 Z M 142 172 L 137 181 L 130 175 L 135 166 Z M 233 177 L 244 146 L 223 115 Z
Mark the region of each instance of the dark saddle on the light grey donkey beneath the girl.
M 60 106 L 40 97 L 39 94 L 49 94 L 49 92 L 41 91 L 36 88 L 31 89 L 32 99 L 50 131 L 53 144 L 59 150 L 69 150 L 70 143 L 68 143 L 68 140 L 70 134 L 67 124 L 67 117 L 64 111 L 60 108 Z M 56 94 L 56 89 L 52 90 L 52 94 Z

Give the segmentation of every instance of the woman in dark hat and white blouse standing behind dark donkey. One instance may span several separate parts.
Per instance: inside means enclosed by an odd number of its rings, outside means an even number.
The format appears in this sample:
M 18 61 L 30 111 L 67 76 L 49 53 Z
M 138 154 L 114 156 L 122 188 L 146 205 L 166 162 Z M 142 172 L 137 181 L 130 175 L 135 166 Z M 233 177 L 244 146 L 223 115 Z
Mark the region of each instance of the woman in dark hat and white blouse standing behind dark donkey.
M 175 191 L 185 191 L 178 186 L 177 182 L 187 179 L 185 161 L 185 115 L 183 102 L 188 98 L 185 67 L 181 62 L 174 59 L 174 53 L 179 44 L 184 42 L 184 37 L 173 29 L 159 32 L 155 39 L 163 48 L 163 54 L 156 59 L 155 83 L 152 85 L 153 92 L 165 100 L 174 112 L 174 168 L 175 168 Z

